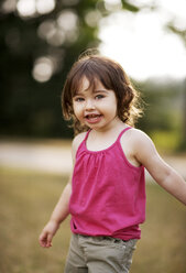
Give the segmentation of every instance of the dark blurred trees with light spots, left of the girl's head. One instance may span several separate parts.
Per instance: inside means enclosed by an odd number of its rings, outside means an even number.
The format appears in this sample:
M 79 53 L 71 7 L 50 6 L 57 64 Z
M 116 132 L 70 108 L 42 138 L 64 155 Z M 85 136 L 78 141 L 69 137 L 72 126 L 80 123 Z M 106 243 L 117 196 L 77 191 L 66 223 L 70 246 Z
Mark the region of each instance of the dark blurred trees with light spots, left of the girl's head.
M 3 0 L 0 3 L 0 134 L 68 138 L 61 91 L 77 56 L 96 47 L 99 21 L 128 1 Z

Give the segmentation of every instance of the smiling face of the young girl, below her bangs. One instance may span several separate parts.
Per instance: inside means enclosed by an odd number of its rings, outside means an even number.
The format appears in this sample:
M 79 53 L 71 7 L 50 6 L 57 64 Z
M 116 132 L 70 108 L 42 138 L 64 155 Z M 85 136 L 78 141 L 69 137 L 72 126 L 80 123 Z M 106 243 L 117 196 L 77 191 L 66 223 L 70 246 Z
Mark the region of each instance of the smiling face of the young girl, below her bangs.
M 86 77 L 73 98 L 73 109 L 81 124 L 98 131 L 110 128 L 118 119 L 114 91 L 106 89 L 99 80 L 95 88 L 90 88 Z

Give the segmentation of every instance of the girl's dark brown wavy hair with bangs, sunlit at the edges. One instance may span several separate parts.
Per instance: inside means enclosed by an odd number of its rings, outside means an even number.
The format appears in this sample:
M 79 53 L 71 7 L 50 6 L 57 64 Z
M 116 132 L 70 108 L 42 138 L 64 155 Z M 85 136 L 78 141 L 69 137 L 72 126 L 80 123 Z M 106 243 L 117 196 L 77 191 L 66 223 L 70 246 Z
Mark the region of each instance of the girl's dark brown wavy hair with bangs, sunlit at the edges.
M 73 110 L 73 97 L 79 90 L 84 77 L 89 80 L 90 88 L 99 80 L 106 89 L 113 90 L 118 101 L 118 117 L 129 125 L 134 125 L 142 113 L 140 97 L 121 65 L 105 56 L 85 55 L 73 65 L 62 94 L 63 114 L 66 120 L 73 120 L 75 133 L 88 130 L 80 124 Z

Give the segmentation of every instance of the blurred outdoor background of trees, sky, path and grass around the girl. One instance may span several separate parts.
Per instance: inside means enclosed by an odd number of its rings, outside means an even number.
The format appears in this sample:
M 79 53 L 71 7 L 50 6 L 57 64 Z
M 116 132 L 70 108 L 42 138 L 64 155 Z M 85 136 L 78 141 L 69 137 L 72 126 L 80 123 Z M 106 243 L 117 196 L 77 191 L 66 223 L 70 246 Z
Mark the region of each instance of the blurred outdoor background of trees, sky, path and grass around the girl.
M 186 177 L 185 11 L 185 0 L 1 0 L 0 272 L 63 270 L 68 220 L 52 250 L 41 250 L 37 236 L 72 168 L 61 94 L 85 50 L 97 47 L 123 66 L 145 101 L 136 127 Z M 185 273 L 184 206 L 153 183 L 146 192 L 131 272 Z

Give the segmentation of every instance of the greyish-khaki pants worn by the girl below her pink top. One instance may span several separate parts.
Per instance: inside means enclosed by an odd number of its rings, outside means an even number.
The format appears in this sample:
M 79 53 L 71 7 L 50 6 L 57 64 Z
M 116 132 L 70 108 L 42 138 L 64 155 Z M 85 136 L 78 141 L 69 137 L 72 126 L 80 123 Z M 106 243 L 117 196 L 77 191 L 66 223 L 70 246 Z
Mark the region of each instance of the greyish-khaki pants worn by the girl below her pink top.
M 65 273 L 129 273 L 136 241 L 73 234 Z

